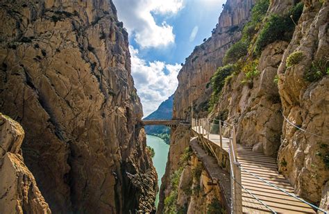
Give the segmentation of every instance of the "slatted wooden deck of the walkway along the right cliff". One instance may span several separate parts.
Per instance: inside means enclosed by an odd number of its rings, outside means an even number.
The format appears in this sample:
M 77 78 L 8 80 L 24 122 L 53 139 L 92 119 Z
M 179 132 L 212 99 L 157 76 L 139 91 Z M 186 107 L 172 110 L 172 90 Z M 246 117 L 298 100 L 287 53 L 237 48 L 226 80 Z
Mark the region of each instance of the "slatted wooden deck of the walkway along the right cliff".
M 207 135 L 202 135 L 198 133 L 198 127 L 193 127 L 194 133 L 207 140 Z M 203 133 L 206 131 L 203 129 Z M 214 145 L 219 145 L 219 135 L 209 134 L 209 140 L 213 142 Z M 229 140 L 223 138 L 223 149 L 228 151 Z M 282 174 L 278 172 L 278 166 L 275 158 L 265 156 L 259 152 L 253 152 L 250 147 L 244 147 L 242 145 L 237 145 L 237 160 L 241 163 L 244 170 L 259 176 L 260 178 L 272 183 L 273 185 L 282 188 L 283 190 L 294 194 L 294 188 L 285 179 Z M 248 174 L 244 170 L 242 173 L 242 186 L 260 199 L 264 204 L 269 206 L 277 213 L 316 213 L 311 206 L 299 201 L 298 199 L 287 195 L 273 186 L 264 181 L 257 179 L 255 176 Z M 244 213 L 271 213 L 268 208 L 257 201 L 252 195 L 250 195 L 246 190 L 242 189 L 242 205 Z

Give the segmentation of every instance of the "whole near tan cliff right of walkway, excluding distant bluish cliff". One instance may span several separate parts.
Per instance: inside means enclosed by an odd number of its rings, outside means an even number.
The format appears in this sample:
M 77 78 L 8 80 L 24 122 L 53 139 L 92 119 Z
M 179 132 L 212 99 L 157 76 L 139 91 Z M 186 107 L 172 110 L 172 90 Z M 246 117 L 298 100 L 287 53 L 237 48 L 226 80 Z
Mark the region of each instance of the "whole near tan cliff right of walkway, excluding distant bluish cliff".
M 247 84 L 245 72 L 233 75 L 210 117 L 228 112 L 238 142 L 278 156 L 279 170 L 296 193 L 319 204 L 328 183 L 328 3 L 303 3 L 292 39 L 264 47 L 259 74 Z M 272 1 L 267 17 L 287 14 L 293 7 L 292 1 Z

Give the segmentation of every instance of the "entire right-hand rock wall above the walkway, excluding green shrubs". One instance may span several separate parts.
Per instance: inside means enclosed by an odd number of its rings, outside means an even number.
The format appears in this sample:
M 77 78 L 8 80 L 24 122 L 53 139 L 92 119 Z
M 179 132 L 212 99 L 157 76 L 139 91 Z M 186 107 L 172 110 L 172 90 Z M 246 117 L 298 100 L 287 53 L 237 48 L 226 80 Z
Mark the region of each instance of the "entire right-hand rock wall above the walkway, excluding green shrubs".
M 266 17 L 287 14 L 296 3 L 270 1 Z M 276 40 L 262 49 L 258 56 L 259 74 L 252 78 L 252 84 L 242 84 L 244 72 L 230 76 L 218 104 L 208 115 L 206 104 L 212 91 L 207 83 L 222 65 L 226 50 L 241 37 L 248 13 L 237 8 L 252 4 L 228 1 L 212 37 L 194 49 L 178 75 L 174 117 L 189 119 L 192 103 L 194 117 L 219 117 L 225 113 L 226 122 L 236 125 L 237 142 L 278 157 L 279 171 L 292 183 L 296 194 L 328 209 L 329 5 L 327 1 L 303 3 L 301 18 L 294 20 L 292 40 Z M 234 24 L 238 24 L 237 28 L 232 28 Z M 262 26 L 258 30 L 261 29 Z M 295 51 L 302 52 L 303 59 L 288 66 L 286 60 Z M 250 52 L 243 60 L 248 58 L 252 58 Z M 313 74 L 307 80 L 305 74 L 310 71 Z M 319 72 L 327 73 L 317 77 Z

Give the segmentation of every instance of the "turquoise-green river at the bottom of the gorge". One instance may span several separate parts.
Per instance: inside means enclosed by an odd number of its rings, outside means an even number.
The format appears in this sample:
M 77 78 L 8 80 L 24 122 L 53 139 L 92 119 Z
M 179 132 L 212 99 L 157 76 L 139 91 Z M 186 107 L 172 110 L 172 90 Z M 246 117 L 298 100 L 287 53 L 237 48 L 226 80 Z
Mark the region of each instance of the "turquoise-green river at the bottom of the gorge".
M 153 165 L 155 167 L 156 172 L 158 173 L 158 186 L 160 189 L 161 186 L 161 178 L 165 174 L 166 164 L 167 164 L 167 156 L 169 151 L 169 145 L 165 143 L 161 138 L 146 135 L 146 145 L 152 147 L 155 152 L 155 156 L 152 158 Z M 159 203 L 159 192 L 156 195 L 155 206 L 158 207 Z

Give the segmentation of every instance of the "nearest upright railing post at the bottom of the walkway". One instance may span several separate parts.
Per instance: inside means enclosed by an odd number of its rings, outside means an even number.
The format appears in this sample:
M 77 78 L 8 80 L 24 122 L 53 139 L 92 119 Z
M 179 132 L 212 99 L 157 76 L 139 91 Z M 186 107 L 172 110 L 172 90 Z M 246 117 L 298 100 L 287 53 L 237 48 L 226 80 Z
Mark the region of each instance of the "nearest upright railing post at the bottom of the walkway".
M 242 181 L 240 163 L 235 162 L 235 213 L 242 213 Z

